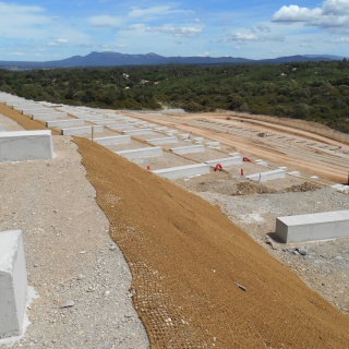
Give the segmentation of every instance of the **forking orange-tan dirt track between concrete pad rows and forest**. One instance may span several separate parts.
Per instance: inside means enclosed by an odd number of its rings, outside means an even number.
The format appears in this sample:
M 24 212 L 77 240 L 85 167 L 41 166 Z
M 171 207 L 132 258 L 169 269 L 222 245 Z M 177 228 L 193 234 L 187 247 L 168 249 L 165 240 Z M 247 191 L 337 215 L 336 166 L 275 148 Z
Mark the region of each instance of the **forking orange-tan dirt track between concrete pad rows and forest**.
M 324 180 L 337 183 L 347 183 L 348 181 L 348 161 L 341 163 L 333 158 L 332 163 L 329 163 L 326 161 L 325 157 L 317 157 L 316 154 L 318 149 L 308 148 L 306 153 L 304 153 L 304 146 L 301 144 L 289 144 L 281 141 L 270 144 L 267 142 L 269 140 L 268 137 L 248 137 L 243 135 L 243 133 L 239 133 L 239 128 L 241 129 L 245 125 L 245 129 L 252 129 L 258 132 L 276 133 L 279 136 L 296 136 L 302 140 L 323 142 L 332 146 L 344 146 L 348 148 L 348 145 L 329 137 L 316 135 L 308 131 L 296 130 L 291 127 L 279 125 L 276 123 L 277 120 L 275 120 L 275 123 L 251 119 L 243 120 L 243 118 L 239 116 L 227 115 L 226 112 L 183 115 L 166 115 L 166 112 L 161 112 L 163 117 L 160 119 L 154 119 L 154 116 L 156 117 L 155 113 L 147 115 L 146 112 L 136 111 L 124 113 L 149 122 L 156 121 L 166 127 L 173 127 L 182 132 L 192 132 L 200 136 L 219 141 L 221 144 L 234 147 L 237 152 L 240 152 L 244 156 L 262 158 L 278 164 L 278 166 L 288 166 L 289 168 L 294 168 L 306 173 L 309 177 L 316 174 Z M 251 116 L 249 117 L 251 118 Z M 215 128 L 209 123 L 201 122 L 202 120 L 217 121 L 225 127 Z M 311 123 L 309 124 L 311 125 Z M 229 125 L 239 128 L 230 131 Z

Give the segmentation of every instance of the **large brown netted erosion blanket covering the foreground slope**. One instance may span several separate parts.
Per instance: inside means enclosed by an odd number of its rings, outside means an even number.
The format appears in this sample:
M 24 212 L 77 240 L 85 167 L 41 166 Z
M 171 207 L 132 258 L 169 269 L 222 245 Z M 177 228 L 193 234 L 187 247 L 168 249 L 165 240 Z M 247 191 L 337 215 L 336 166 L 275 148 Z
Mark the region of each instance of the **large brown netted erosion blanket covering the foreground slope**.
M 153 348 L 348 348 L 349 318 L 219 208 L 75 137 Z

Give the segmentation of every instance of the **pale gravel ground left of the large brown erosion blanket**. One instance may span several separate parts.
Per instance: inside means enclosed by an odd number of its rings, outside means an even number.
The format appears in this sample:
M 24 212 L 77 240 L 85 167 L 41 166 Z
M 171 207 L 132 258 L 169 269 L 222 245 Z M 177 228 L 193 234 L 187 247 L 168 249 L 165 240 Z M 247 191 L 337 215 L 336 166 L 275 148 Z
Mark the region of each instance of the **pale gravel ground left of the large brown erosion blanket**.
M 21 130 L 3 117 L 0 123 Z M 128 264 L 109 237 L 76 145 L 52 139 L 52 160 L 0 164 L 0 231 L 23 231 L 28 285 L 38 296 L 13 348 L 148 348 Z

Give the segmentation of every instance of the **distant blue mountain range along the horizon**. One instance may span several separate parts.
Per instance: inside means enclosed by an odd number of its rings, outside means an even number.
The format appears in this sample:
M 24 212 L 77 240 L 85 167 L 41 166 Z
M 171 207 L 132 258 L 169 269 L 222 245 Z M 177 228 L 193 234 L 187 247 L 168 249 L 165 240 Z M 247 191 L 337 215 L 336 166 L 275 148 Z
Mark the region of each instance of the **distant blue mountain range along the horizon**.
M 50 69 L 77 67 L 120 67 L 120 65 L 164 65 L 164 64 L 277 64 L 287 62 L 333 61 L 344 57 L 329 55 L 289 56 L 275 59 L 252 60 L 234 57 L 164 57 L 156 53 L 128 55 L 118 52 L 91 52 L 87 56 L 46 61 L 0 61 L 0 68 L 5 69 Z

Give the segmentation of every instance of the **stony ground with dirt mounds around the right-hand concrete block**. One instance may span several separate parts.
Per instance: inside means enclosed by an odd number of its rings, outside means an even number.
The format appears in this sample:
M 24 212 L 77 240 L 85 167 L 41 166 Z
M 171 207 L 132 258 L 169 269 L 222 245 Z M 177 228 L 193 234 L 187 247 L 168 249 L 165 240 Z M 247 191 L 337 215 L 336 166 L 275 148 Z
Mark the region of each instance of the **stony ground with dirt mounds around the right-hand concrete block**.
M 215 173 L 178 183 L 219 205 L 273 256 L 349 315 L 349 238 L 285 244 L 274 237 L 277 217 L 349 209 L 349 195 L 304 185 L 292 177 L 261 185 Z

